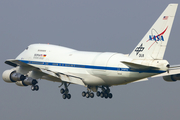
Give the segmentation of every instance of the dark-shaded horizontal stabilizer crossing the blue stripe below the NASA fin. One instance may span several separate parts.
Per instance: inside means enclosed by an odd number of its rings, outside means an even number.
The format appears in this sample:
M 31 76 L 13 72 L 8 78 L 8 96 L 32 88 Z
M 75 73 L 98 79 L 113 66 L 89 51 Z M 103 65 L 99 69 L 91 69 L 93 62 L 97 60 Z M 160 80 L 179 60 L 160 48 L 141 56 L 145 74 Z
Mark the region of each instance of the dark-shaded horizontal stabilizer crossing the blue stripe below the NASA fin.
M 121 62 L 134 70 L 158 70 L 159 69 L 158 67 L 146 66 L 146 65 L 141 65 L 141 64 L 132 63 L 132 62 L 126 62 L 126 61 L 121 61 Z

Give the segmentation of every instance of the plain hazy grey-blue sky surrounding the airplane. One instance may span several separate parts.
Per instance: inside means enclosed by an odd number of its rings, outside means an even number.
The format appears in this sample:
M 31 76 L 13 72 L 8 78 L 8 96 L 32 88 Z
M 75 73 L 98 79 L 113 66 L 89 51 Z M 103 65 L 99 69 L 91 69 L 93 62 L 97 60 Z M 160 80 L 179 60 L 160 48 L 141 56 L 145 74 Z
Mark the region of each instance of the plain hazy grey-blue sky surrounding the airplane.
M 84 51 L 128 54 L 169 3 L 179 0 L 0 0 L 0 73 L 28 45 L 50 43 Z M 164 58 L 180 64 L 180 9 Z M 85 87 L 70 85 L 63 100 L 60 83 L 39 81 L 40 89 L 0 80 L 2 120 L 170 120 L 180 118 L 180 82 L 161 77 L 111 87 L 113 99 L 87 99 Z

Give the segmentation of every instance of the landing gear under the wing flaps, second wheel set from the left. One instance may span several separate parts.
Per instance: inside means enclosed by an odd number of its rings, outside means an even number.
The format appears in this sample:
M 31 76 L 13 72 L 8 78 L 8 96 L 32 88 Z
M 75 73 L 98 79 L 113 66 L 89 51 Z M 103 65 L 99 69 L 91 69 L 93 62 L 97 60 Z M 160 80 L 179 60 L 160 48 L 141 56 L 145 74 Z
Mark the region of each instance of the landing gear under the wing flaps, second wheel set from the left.
M 62 98 L 63 99 L 71 99 L 71 94 L 69 94 L 69 89 L 68 86 L 70 84 L 67 85 L 67 83 L 62 83 L 62 85 L 64 84 L 64 88 L 60 89 L 60 93 L 62 94 Z M 60 85 L 59 87 L 61 87 L 62 85 Z

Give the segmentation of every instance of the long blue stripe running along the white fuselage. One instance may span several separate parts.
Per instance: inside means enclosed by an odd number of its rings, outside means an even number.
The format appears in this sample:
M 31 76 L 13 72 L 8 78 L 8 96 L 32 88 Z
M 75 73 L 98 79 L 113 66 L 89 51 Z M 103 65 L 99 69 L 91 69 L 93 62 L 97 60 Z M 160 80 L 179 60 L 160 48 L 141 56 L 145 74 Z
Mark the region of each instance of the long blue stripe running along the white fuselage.
M 62 66 L 62 67 L 75 67 L 75 68 L 86 68 L 86 69 L 97 69 L 97 70 L 112 70 L 112 71 L 129 71 L 129 72 L 139 72 L 139 73 L 164 73 L 166 71 L 160 70 L 131 70 L 129 68 L 118 68 L 118 67 L 105 67 L 105 66 L 93 66 L 93 65 L 80 65 L 80 64 L 69 64 L 69 63 L 53 63 L 53 62 L 40 62 L 40 61 L 27 61 L 20 60 L 23 63 L 35 64 L 35 65 L 49 65 L 49 66 Z

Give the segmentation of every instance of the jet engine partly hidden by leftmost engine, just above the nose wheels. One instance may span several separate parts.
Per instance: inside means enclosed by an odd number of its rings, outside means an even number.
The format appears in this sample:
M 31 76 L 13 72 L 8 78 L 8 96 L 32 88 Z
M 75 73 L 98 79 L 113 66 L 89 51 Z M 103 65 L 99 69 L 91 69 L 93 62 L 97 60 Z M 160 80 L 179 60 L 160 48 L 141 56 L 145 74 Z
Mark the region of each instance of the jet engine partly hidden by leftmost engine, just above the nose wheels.
M 37 83 L 38 83 L 37 80 L 35 80 L 33 78 L 30 78 L 30 77 L 27 77 L 23 81 L 17 81 L 16 85 L 18 85 L 18 86 L 28 86 L 28 85 L 35 85 Z

